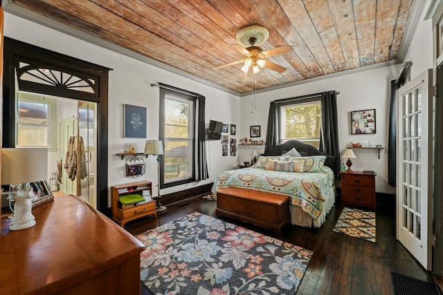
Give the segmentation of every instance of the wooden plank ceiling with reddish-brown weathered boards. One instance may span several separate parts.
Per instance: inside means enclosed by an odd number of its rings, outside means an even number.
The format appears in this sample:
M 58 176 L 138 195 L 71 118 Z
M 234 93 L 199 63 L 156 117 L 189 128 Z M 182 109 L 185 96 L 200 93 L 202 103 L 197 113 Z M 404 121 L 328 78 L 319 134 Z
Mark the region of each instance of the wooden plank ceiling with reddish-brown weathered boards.
M 12 0 L 12 3 L 238 93 L 397 59 L 413 0 Z M 231 44 L 246 26 L 261 25 L 268 59 L 242 78 Z M 253 78 L 251 78 L 253 77 Z

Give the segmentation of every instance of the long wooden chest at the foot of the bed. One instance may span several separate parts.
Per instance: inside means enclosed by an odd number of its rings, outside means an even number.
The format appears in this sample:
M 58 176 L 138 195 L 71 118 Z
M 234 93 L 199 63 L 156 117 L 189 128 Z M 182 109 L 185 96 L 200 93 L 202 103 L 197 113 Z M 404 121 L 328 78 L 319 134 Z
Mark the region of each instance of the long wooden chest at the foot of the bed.
M 224 187 L 217 190 L 216 214 L 250 222 L 280 234 L 282 227 L 289 222 L 289 196 Z

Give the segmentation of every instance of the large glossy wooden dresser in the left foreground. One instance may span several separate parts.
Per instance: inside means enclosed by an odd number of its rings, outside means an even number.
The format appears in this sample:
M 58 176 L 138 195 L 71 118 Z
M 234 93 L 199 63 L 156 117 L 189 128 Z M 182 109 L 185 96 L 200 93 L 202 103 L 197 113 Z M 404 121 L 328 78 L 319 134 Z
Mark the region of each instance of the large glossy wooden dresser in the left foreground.
M 73 195 L 33 215 L 19 231 L 1 220 L 1 294 L 140 294 L 145 246 L 134 236 Z

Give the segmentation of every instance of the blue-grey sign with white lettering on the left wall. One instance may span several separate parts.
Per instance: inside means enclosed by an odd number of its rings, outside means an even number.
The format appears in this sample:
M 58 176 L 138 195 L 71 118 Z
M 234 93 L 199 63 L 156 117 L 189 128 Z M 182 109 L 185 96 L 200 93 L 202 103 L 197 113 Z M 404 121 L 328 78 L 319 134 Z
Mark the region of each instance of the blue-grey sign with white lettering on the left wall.
M 146 138 L 146 108 L 123 104 L 123 137 Z

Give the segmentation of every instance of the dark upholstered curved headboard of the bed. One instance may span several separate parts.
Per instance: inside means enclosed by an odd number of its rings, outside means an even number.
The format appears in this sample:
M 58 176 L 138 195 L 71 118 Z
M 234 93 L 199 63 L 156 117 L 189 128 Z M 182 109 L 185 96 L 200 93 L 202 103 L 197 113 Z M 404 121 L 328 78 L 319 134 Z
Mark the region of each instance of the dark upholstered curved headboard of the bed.
M 300 142 L 298 140 L 288 140 L 282 144 L 278 144 L 269 150 L 266 155 L 282 155 L 282 153 L 286 153 L 291 150 L 293 147 L 296 148 L 298 153 L 302 156 L 306 155 L 325 155 L 321 151 L 318 151 L 315 146 L 311 146 L 311 144 L 305 144 L 304 142 Z M 338 168 L 336 166 L 336 157 L 334 155 L 325 155 L 325 165 L 334 171 L 334 175 L 337 175 Z

